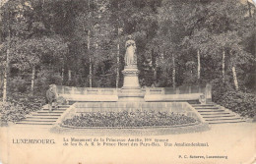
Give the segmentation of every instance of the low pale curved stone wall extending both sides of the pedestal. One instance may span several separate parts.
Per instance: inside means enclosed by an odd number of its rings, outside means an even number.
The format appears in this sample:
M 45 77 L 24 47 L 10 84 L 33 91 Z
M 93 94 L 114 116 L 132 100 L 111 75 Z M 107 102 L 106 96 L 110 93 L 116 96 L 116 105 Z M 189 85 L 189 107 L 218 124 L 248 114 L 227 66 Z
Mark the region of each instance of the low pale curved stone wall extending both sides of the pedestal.
M 57 92 L 68 101 L 118 101 L 121 88 L 110 87 L 74 87 L 57 85 Z M 141 88 L 145 94 L 145 101 L 190 101 L 204 97 L 207 102 L 212 101 L 212 86 L 180 86 L 145 87 Z M 204 96 L 202 96 L 204 95 Z

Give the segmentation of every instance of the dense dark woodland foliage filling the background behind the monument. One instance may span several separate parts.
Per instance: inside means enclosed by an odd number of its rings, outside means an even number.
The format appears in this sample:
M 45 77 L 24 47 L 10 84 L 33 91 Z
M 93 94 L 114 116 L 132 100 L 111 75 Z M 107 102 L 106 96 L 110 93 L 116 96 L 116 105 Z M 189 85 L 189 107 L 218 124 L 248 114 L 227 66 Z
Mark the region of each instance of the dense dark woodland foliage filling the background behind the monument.
M 12 0 L 0 13 L 0 75 L 10 69 L 11 93 L 29 91 L 31 83 L 35 94 L 50 83 L 89 86 L 91 66 L 93 86 L 115 86 L 117 67 L 121 86 L 128 34 L 142 86 L 219 81 L 219 101 L 233 89 L 235 66 L 240 90 L 255 92 L 256 12 L 239 0 Z

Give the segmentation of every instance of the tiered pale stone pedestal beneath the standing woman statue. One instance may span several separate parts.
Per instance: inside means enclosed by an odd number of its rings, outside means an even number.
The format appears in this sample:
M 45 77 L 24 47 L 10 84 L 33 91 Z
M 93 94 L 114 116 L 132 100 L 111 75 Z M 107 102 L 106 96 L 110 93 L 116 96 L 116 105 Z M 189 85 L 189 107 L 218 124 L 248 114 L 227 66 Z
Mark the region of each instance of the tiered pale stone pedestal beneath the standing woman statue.
M 125 66 L 123 87 L 118 94 L 118 101 L 144 101 L 144 93 L 139 83 L 139 70 L 137 66 Z

